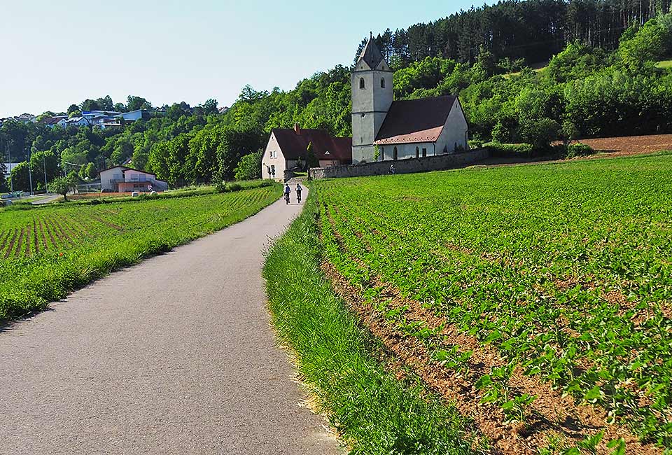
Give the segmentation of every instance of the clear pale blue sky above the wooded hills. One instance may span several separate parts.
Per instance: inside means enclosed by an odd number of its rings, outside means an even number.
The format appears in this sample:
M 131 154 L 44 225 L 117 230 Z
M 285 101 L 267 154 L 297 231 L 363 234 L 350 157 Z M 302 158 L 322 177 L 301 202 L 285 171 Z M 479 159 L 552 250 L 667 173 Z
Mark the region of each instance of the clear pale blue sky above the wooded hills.
M 155 106 L 208 98 L 230 106 L 246 84 L 289 90 L 316 71 L 351 64 L 369 31 L 472 3 L 0 0 L 0 117 L 64 111 L 106 94 Z

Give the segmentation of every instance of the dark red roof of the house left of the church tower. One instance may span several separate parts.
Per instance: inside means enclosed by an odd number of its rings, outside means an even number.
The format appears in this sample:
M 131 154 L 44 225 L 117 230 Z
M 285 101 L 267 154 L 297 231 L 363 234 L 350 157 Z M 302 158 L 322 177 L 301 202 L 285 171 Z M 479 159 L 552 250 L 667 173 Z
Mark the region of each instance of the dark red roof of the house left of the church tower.
M 352 161 L 351 137 L 331 137 L 324 130 L 300 129 L 297 132 L 291 128 L 274 128 L 272 134 L 286 160 L 306 160 L 308 144 L 312 144 L 318 160 Z

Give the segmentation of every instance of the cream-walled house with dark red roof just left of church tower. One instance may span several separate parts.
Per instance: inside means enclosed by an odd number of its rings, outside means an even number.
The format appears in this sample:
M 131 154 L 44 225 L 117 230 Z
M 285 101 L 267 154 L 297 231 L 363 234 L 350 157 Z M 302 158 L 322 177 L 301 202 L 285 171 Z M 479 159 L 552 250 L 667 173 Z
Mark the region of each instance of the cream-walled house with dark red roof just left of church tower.
M 332 137 L 324 130 L 308 130 L 299 125 L 274 128 L 262 157 L 262 179 L 282 181 L 286 170 L 304 167 L 309 148 L 319 161 L 319 167 L 352 162 L 352 139 L 349 137 Z

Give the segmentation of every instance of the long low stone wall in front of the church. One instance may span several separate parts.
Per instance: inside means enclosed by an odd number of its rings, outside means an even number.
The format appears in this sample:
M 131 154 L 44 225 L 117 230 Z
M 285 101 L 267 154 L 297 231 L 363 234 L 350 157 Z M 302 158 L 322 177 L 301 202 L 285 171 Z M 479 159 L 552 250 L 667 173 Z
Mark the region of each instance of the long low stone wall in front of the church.
M 448 153 L 446 155 L 428 156 L 426 158 L 369 162 L 361 165 L 313 167 L 309 169 L 308 175 L 311 179 L 378 176 L 389 174 L 390 165 L 394 165 L 395 174 L 412 174 L 414 172 L 442 171 L 464 167 L 488 157 L 488 149 L 478 148 L 465 153 Z

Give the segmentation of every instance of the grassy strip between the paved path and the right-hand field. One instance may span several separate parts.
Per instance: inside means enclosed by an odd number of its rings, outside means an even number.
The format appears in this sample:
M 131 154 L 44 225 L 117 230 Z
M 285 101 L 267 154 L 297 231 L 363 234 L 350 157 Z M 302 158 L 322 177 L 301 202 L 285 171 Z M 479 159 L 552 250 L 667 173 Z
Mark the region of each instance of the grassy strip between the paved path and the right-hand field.
M 372 352 L 379 342 L 334 295 L 319 264 L 318 214 L 302 215 L 270 249 L 264 267 L 269 305 L 281 339 L 353 454 L 470 454 L 472 437 L 458 411 L 400 381 Z

